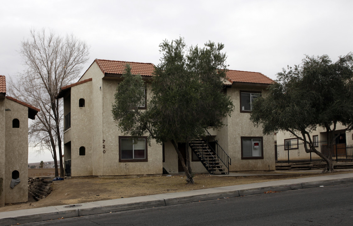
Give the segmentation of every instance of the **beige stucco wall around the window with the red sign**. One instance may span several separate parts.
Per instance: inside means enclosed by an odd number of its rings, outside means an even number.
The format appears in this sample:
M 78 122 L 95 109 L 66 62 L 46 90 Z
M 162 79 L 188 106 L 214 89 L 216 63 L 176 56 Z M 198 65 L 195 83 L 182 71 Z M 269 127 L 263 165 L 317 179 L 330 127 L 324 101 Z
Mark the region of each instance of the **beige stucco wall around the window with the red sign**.
M 216 140 L 232 159 L 230 171 L 275 170 L 274 136 L 263 135 L 261 128 L 256 128 L 250 121 L 250 113 L 240 112 L 240 90 L 261 91 L 261 86 L 236 86 L 227 88 L 227 94 L 234 104 L 231 117 L 224 120 L 227 126 L 217 132 Z M 241 159 L 241 136 L 261 136 L 263 139 L 263 159 Z

